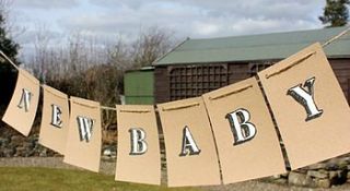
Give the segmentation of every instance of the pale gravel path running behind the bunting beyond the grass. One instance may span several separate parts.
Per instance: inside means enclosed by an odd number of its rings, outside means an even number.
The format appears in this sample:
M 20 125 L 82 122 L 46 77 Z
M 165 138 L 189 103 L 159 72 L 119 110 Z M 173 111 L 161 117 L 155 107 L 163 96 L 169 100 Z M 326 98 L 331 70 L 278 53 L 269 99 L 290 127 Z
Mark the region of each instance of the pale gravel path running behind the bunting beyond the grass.
M 47 167 L 47 168 L 63 168 L 63 169 L 80 169 L 78 167 L 65 164 L 61 157 L 14 157 L 14 158 L 0 158 L 0 167 Z M 102 162 L 101 172 L 106 175 L 115 174 L 115 163 Z M 349 191 L 350 184 L 341 187 L 334 187 L 331 189 L 310 189 L 301 187 L 287 187 L 276 183 L 261 182 L 261 181 L 245 181 L 233 183 L 229 186 L 218 187 L 203 187 L 206 191 Z

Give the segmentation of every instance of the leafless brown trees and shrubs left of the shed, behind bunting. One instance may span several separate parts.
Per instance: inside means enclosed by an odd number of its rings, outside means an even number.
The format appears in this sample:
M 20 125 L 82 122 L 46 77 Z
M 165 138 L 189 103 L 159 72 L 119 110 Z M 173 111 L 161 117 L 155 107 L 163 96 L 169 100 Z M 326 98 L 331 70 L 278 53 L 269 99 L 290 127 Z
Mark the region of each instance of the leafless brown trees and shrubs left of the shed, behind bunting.
M 81 32 L 55 44 L 45 25 L 37 26 L 31 68 L 46 84 L 68 95 L 89 98 L 105 106 L 119 103 L 124 72 L 151 64 L 173 45 L 173 33 L 151 27 L 131 43 L 119 37 L 103 44 Z M 103 112 L 104 131 L 115 122 L 115 112 Z

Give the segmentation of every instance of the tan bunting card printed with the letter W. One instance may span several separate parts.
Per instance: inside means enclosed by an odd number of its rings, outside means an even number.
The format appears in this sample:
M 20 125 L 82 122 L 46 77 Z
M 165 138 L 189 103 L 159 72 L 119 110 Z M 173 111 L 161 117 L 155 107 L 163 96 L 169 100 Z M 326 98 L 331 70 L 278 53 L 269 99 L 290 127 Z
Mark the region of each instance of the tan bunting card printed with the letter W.
M 65 163 L 92 171 L 100 169 L 101 108 L 100 103 L 70 97 L 70 122 Z

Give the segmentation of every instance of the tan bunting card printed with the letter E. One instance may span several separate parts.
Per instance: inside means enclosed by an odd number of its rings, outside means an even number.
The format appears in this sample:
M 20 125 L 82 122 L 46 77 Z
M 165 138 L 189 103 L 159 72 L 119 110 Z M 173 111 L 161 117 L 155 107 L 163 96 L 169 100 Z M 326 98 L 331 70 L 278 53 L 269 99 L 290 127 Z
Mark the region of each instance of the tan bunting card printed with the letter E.
M 69 126 L 68 96 L 44 85 L 44 104 L 39 143 L 65 154 Z

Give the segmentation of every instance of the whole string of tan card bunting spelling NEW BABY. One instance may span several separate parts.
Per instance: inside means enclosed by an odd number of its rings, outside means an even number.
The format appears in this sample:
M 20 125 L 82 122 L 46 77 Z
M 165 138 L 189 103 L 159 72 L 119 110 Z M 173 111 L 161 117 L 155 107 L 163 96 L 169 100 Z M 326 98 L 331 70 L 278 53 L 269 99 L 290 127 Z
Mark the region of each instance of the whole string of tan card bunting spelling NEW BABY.
M 107 107 L 42 86 L 39 143 L 63 154 L 65 163 L 97 172 L 101 109 Z M 24 135 L 35 118 L 39 87 L 19 69 L 2 120 Z M 258 76 L 156 107 L 162 126 L 154 106 L 108 108 L 117 112 L 116 180 L 160 184 L 161 147 L 170 187 L 261 178 L 284 172 L 284 160 L 296 169 L 350 152 L 349 105 L 319 44 Z

